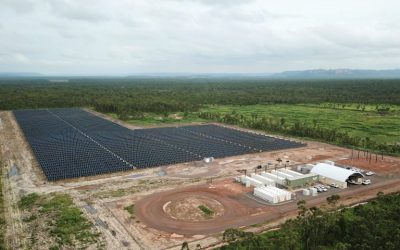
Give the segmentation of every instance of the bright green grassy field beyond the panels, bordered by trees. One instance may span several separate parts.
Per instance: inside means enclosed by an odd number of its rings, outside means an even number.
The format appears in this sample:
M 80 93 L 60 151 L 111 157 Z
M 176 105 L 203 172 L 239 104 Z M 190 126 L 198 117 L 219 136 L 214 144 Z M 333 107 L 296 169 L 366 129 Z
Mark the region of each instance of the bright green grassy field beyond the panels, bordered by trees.
M 400 107 L 391 105 L 389 112 L 382 113 L 377 111 L 377 105 L 364 106 L 362 111 L 356 104 L 347 104 L 345 108 L 339 105 L 333 108 L 328 104 L 209 105 L 200 112 L 221 115 L 233 112 L 246 118 L 276 122 L 284 118 L 284 126 L 300 121 L 309 126 L 337 129 L 351 136 L 369 137 L 379 143 L 400 142 Z

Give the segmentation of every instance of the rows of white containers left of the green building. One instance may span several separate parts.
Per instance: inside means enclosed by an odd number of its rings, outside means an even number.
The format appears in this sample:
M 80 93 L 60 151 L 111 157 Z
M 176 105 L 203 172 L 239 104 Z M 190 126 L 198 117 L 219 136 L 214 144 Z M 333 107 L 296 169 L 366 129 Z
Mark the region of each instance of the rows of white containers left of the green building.
M 246 187 L 253 186 L 254 196 L 273 204 L 289 201 L 292 198 L 291 192 L 275 187 L 275 184 L 281 184 L 284 178 L 268 172 L 252 173 L 251 176 L 241 175 L 236 177 L 236 181 Z

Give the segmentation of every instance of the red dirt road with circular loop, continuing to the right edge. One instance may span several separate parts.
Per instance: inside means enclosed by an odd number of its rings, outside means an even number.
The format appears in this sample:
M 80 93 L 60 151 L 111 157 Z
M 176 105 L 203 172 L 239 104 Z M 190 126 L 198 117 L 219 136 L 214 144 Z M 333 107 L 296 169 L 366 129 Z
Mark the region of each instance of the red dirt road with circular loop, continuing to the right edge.
M 230 185 L 217 184 L 217 186 L 200 185 L 155 193 L 136 203 L 136 215 L 141 222 L 150 228 L 186 237 L 214 234 L 230 227 L 238 228 L 297 215 L 295 201 L 275 206 L 263 205 L 248 198 L 244 192 L 240 193 L 229 188 L 229 186 L 234 187 L 235 185 L 240 187 L 240 184 L 236 183 Z M 307 206 L 319 206 L 326 203 L 328 196 L 338 193 L 341 196 L 341 203 L 349 205 L 373 198 L 379 191 L 386 193 L 399 190 L 399 179 L 384 179 L 368 187 L 360 185 L 352 186 L 346 190 L 331 189 L 331 191 L 319 194 L 317 197 L 302 198 L 307 201 Z M 163 207 L 166 203 L 191 195 L 200 195 L 218 201 L 223 205 L 224 213 L 214 219 L 194 222 L 175 219 L 164 212 Z

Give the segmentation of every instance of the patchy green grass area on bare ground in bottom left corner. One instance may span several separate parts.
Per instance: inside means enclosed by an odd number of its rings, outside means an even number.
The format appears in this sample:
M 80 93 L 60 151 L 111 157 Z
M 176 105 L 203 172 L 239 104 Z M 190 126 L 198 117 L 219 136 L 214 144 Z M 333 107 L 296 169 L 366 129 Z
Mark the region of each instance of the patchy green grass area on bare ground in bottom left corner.
M 52 248 L 86 248 L 97 243 L 99 233 L 74 205 L 67 194 L 23 196 L 18 203 L 24 212 L 23 221 L 31 228 L 30 247 L 37 248 L 38 235 L 47 235 Z

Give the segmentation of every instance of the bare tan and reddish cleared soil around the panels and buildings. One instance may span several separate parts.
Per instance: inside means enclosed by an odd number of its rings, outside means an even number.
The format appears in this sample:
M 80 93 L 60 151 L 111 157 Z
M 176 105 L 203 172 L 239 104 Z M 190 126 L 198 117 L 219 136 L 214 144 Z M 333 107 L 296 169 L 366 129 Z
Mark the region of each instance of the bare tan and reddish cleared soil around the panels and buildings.
M 117 122 L 129 128 L 137 128 Z M 190 242 L 194 247 L 196 244 L 203 247 L 216 245 L 221 241 L 219 232 L 227 226 L 245 226 L 246 230 L 261 231 L 297 214 L 295 202 L 266 206 L 251 199 L 247 195 L 251 189 L 232 182 L 232 177 L 239 174 L 238 170 L 254 171 L 257 165 L 267 163 L 276 165 L 278 158 L 295 166 L 326 159 L 346 162 L 350 156 L 351 150 L 308 142 L 308 146 L 303 148 L 216 159 L 210 164 L 189 162 L 48 182 L 12 114 L 0 112 L 0 159 L 6 166 L 3 169 L 3 190 L 8 225 L 7 246 L 12 249 L 26 248 L 26 239 L 31 232 L 22 222 L 16 204 L 21 195 L 30 192 L 63 192 L 71 195 L 76 205 L 82 208 L 101 232 L 106 249 L 180 249 L 183 241 Z M 388 173 L 395 172 L 398 165 L 392 165 L 398 164 L 399 159 L 385 159 L 387 161 L 381 163 L 389 167 L 381 168 Z M 353 163 L 369 169 L 361 163 Z M 277 167 L 283 166 L 281 164 Z M 377 170 L 379 166 L 376 164 L 373 170 L 380 173 Z M 18 173 L 9 177 L 7 174 L 12 167 Z M 341 191 L 340 195 L 345 197 L 341 199 L 343 203 L 352 204 L 372 198 L 379 191 L 398 190 L 398 179 L 386 177 L 369 187 L 360 186 Z M 324 195 L 310 198 L 307 203 L 321 205 L 326 199 Z M 133 215 L 125 209 L 129 205 L 134 205 Z M 202 217 L 199 205 L 209 207 L 215 214 L 211 218 Z M 42 249 L 46 247 L 44 244 Z

